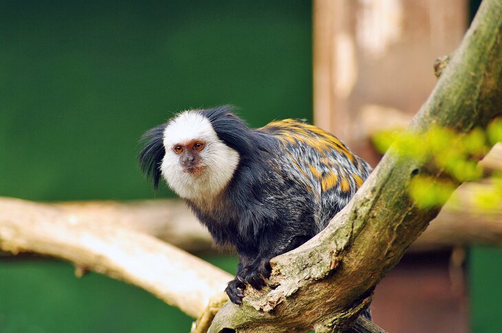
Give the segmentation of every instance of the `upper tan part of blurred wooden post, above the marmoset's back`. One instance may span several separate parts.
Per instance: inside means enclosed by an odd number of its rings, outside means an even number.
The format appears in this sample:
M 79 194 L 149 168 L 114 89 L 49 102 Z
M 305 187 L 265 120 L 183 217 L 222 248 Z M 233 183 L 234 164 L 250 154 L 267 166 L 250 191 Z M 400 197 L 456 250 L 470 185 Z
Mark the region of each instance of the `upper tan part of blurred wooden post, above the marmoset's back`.
M 371 119 L 411 119 L 467 18 L 467 0 L 314 0 L 316 125 L 375 165 Z

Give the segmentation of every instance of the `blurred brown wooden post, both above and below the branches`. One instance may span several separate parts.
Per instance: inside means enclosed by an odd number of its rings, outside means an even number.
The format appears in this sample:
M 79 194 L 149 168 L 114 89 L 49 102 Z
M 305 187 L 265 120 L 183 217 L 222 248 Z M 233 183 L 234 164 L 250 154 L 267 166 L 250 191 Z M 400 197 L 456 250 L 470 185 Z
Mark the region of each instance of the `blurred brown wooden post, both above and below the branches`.
M 314 0 L 316 125 L 376 165 L 369 135 L 404 128 L 415 115 L 437 81 L 435 58 L 450 54 L 466 32 L 467 5 L 468 0 Z M 441 235 L 432 230 L 429 235 Z M 404 262 L 382 281 L 373 300 L 377 324 L 390 332 L 468 331 L 466 296 L 448 288 L 448 260 L 435 261 L 436 266 L 419 264 L 421 271 L 407 270 L 417 262 Z M 424 288 L 399 290 L 417 281 L 410 279 L 415 276 L 429 289 L 444 288 L 429 298 Z M 389 301 L 393 297 L 400 301 Z M 441 310 L 437 300 L 449 310 Z M 426 320 L 431 314 L 441 323 Z

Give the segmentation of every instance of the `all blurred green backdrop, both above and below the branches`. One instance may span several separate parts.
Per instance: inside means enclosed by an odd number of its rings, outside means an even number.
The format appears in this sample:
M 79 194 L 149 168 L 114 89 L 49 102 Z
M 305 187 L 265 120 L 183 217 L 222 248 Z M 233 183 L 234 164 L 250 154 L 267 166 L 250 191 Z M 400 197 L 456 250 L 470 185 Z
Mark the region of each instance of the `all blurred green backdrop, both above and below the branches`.
M 252 126 L 312 119 L 310 1 L 0 2 L 0 196 L 151 198 L 139 137 L 175 111 L 219 104 Z M 502 310 L 502 252 L 470 253 L 472 327 L 496 332 L 487 319 Z M 0 332 L 187 332 L 190 322 L 133 286 L 76 279 L 67 263 L 0 258 Z

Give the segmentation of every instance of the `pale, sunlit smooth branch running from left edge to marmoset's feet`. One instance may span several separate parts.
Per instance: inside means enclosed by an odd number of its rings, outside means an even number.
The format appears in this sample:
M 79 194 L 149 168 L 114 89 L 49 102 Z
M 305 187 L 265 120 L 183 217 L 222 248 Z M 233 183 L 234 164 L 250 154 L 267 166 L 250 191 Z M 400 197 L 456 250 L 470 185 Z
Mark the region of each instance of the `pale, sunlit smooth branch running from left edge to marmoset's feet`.
M 83 216 L 56 205 L 2 198 L 0 249 L 60 257 L 122 279 L 194 318 L 210 299 L 227 299 L 223 289 L 230 274 L 152 236 Z

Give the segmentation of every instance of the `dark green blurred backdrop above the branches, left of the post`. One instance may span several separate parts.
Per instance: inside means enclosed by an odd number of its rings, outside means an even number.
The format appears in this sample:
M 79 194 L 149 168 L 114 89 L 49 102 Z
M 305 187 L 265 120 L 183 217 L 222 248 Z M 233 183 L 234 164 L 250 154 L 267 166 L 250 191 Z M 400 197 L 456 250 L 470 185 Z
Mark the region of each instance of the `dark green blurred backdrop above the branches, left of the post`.
M 309 1 L 1 1 L 0 189 L 152 196 L 138 139 L 185 108 L 312 114 Z

